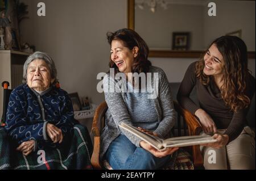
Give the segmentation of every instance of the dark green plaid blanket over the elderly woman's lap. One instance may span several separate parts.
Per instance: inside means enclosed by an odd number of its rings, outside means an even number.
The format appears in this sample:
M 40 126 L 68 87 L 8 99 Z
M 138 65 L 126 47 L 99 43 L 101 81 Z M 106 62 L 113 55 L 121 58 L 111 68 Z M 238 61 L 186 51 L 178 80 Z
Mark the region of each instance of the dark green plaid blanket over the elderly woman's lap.
M 92 169 L 92 142 L 88 130 L 75 125 L 71 140 L 60 148 L 37 150 L 27 157 L 10 146 L 5 131 L 0 128 L 0 169 Z

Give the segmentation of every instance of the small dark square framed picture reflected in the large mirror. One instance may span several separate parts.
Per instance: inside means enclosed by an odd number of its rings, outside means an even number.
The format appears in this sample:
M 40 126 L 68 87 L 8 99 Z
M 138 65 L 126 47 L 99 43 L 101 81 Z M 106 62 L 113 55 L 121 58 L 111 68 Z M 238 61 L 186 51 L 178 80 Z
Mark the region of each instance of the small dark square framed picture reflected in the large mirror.
M 173 32 L 172 33 L 172 49 L 188 50 L 189 49 L 189 32 Z

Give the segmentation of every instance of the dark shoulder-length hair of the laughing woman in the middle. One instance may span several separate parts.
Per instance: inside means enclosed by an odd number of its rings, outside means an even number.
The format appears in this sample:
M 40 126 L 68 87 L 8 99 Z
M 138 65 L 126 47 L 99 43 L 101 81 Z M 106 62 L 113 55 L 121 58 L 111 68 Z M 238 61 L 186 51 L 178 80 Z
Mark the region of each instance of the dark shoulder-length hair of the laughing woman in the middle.
M 138 47 L 138 56 L 134 58 L 134 62 L 131 68 L 132 73 L 147 73 L 151 62 L 147 60 L 148 58 L 148 46 L 146 42 L 142 39 L 139 34 L 133 30 L 123 28 L 121 30 L 107 33 L 108 43 L 111 45 L 113 40 L 121 40 L 123 45 L 130 50 L 134 47 Z M 109 61 L 109 68 L 114 68 L 115 73 L 118 73 L 118 67 L 115 63 L 111 60 Z

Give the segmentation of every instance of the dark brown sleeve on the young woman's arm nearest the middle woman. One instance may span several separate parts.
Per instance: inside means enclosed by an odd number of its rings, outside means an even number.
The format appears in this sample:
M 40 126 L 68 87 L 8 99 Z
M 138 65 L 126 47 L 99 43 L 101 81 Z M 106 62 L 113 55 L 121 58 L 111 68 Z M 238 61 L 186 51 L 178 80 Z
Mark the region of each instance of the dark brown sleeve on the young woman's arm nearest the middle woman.
M 196 74 L 195 74 L 196 62 L 193 62 L 188 66 L 188 69 L 184 75 L 183 81 L 180 84 L 179 91 L 177 93 L 177 100 L 181 107 L 189 110 L 195 115 L 195 112 L 200 108 L 193 100 L 189 98 L 189 95 L 196 85 Z

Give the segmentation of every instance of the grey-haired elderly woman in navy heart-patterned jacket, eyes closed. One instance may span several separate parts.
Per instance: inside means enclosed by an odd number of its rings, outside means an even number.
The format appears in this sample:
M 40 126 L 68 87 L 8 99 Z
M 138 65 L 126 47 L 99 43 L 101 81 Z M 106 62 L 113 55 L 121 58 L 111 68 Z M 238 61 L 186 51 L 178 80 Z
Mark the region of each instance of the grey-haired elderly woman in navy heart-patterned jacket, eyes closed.
M 24 156 L 36 150 L 71 148 L 75 123 L 72 102 L 66 91 L 55 86 L 56 75 L 52 58 L 35 52 L 24 63 L 24 84 L 10 95 L 5 129 L 15 142 L 16 150 Z M 73 149 L 72 153 L 77 151 L 78 148 Z M 88 148 L 80 151 L 87 155 L 79 159 L 86 159 L 89 165 Z M 49 164 L 46 167 L 48 169 Z

